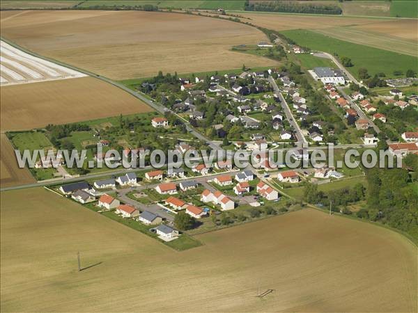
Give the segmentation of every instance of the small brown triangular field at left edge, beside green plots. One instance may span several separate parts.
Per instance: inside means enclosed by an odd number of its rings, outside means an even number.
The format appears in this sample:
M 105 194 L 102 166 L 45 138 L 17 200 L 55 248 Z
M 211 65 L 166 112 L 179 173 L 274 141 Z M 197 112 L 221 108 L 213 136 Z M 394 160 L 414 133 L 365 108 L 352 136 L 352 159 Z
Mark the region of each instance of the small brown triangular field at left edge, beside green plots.
M 27 168 L 19 168 L 10 141 L 0 134 L 0 186 L 1 188 L 35 182 Z

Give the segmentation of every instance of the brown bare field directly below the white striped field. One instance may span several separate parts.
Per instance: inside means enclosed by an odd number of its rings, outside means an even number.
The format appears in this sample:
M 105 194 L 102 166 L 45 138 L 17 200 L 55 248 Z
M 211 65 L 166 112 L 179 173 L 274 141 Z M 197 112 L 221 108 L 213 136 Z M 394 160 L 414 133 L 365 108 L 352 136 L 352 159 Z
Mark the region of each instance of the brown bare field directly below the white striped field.
M 1 88 L 1 130 L 23 130 L 153 111 L 125 91 L 83 77 Z

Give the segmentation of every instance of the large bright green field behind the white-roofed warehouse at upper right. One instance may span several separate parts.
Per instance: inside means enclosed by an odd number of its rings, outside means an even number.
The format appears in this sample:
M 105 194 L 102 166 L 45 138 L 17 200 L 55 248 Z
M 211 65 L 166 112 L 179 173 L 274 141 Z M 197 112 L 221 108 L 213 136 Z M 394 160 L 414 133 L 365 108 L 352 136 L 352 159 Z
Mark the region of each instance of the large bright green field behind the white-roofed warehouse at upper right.
M 396 70 L 405 73 L 417 67 L 418 58 L 405 54 L 357 45 L 302 29 L 281 31 L 281 33 L 297 42 L 297 45 L 351 58 L 354 66 L 347 67 L 347 70 L 357 78 L 360 67 L 365 67 L 371 76 L 384 72 L 388 78 L 394 77 L 393 72 Z

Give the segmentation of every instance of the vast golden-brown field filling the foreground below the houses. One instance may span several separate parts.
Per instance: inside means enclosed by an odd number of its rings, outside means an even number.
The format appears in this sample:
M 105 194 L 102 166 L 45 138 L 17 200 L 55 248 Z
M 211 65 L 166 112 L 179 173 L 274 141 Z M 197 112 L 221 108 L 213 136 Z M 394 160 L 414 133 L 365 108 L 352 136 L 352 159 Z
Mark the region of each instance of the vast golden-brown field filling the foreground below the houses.
M 45 189 L 1 200 L 2 312 L 417 310 L 416 247 L 367 223 L 305 209 L 176 252 Z

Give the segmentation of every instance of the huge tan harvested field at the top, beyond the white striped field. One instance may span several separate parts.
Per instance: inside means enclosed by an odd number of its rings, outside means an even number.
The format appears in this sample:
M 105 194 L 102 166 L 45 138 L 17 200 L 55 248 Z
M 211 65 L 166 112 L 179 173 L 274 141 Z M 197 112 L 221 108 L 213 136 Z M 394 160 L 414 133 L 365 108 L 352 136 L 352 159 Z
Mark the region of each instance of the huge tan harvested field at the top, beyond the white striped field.
M 32 11 L 1 22 L 2 35 L 38 54 L 111 79 L 276 65 L 231 47 L 267 40 L 254 27 L 178 13 Z

